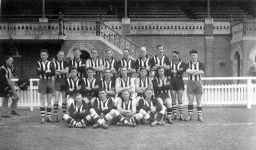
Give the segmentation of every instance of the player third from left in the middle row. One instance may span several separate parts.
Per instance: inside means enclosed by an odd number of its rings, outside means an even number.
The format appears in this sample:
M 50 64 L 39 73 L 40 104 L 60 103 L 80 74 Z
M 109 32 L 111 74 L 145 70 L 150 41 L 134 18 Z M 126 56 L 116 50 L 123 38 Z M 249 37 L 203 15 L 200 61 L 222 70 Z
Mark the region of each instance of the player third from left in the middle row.
M 115 100 L 115 95 L 117 94 L 115 90 L 116 78 L 111 77 L 111 70 L 106 68 L 104 70 L 104 76 L 102 78 L 102 87 L 106 90 L 106 97 Z

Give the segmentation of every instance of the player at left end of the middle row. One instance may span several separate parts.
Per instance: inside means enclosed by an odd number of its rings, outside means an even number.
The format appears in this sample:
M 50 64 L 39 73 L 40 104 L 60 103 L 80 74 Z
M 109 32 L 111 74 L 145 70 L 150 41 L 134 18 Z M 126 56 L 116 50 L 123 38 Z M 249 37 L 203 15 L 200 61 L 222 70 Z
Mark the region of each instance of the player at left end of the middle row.
M 67 109 L 69 110 L 70 104 L 75 100 L 75 94 L 81 93 L 82 84 L 84 84 L 83 79 L 77 77 L 77 68 L 71 67 L 70 70 L 71 77 L 67 78 L 66 86 L 66 95 L 67 95 Z

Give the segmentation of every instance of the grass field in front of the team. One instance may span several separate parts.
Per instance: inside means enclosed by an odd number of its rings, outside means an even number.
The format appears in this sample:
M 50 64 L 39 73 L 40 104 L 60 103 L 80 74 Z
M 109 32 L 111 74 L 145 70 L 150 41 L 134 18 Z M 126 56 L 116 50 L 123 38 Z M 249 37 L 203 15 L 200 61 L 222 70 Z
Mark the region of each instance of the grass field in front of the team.
M 42 125 L 38 109 L 19 112 L 21 117 L 0 118 L 0 149 L 256 149 L 255 106 L 204 107 L 203 123 L 194 109 L 189 122 L 107 130 L 69 129 L 64 121 Z

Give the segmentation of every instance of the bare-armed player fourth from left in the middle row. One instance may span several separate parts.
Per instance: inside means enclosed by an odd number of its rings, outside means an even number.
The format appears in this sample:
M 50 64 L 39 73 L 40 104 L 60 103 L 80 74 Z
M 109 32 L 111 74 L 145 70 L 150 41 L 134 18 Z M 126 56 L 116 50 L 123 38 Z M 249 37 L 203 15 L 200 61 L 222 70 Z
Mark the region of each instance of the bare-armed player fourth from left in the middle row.
M 114 108 L 117 107 L 117 102 L 121 98 L 121 92 L 123 90 L 128 90 L 129 94 L 135 93 L 134 80 L 131 79 L 131 76 L 128 76 L 127 66 L 121 66 L 121 76 L 116 79 L 115 90 L 118 93 L 118 96 L 114 101 Z

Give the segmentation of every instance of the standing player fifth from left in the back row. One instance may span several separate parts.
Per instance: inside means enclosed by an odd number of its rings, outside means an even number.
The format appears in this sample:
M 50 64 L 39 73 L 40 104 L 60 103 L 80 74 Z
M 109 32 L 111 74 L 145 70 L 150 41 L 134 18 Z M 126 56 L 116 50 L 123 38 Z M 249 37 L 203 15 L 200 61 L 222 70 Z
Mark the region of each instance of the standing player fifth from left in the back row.
M 111 76 L 114 76 L 115 74 L 118 74 L 117 70 L 116 70 L 116 66 L 117 66 L 117 60 L 114 60 L 113 58 L 113 52 L 110 48 L 108 48 L 107 50 L 105 50 L 105 58 L 103 60 L 103 66 L 104 68 L 108 68 L 111 71 Z

